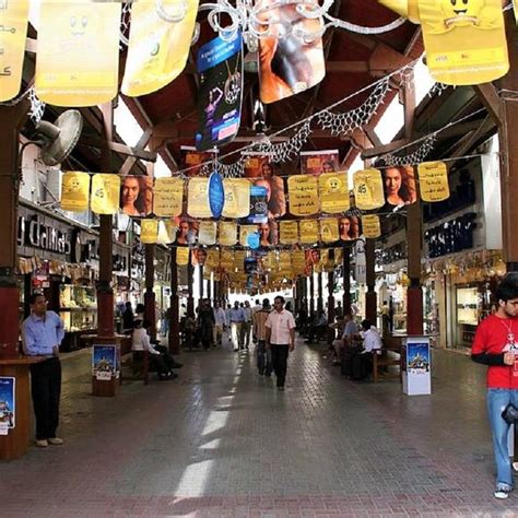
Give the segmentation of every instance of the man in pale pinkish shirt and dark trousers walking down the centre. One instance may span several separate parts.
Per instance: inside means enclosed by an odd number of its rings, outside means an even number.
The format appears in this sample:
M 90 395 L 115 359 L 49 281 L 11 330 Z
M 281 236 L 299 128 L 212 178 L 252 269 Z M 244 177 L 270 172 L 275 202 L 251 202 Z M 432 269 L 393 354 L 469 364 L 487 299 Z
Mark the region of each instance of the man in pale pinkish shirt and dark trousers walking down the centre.
M 273 311 L 264 322 L 267 329 L 267 346 L 271 348 L 273 370 L 276 388 L 284 390 L 287 370 L 287 355 L 295 349 L 295 319 L 284 309 L 284 297 L 273 299 Z

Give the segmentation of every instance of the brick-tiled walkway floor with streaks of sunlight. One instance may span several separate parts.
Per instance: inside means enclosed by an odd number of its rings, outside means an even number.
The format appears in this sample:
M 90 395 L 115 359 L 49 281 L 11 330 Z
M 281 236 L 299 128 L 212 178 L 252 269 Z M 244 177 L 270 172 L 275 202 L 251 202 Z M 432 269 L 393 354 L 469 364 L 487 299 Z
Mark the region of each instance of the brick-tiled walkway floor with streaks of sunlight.
M 63 361 L 62 447 L 0 466 L 0 516 L 518 516 L 492 496 L 484 368 L 434 353 L 431 397 L 349 381 L 298 344 L 287 387 L 254 354 L 184 353 L 174 381 L 90 396 Z

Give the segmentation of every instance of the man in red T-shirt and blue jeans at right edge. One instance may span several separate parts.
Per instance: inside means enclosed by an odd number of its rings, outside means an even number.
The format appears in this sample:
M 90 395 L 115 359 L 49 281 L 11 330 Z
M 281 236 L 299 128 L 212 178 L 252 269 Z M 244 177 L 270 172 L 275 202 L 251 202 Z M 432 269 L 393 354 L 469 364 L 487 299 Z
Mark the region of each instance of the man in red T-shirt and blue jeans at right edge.
M 496 462 L 496 498 L 513 491 L 513 470 L 508 452 L 509 424 L 502 416 L 507 405 L 518 408 L 518 275 L 507 274 L 498 284 L 498 308 L 482 320 L 471 346 L 471 358 L 487 365 L 487 413 L 493 433 Z

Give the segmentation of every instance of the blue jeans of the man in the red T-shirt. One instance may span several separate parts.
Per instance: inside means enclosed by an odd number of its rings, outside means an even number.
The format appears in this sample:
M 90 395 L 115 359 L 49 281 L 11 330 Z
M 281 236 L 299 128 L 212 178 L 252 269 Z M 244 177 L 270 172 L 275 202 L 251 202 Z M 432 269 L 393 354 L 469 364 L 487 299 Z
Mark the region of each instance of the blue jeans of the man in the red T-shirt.
M 493 433 L 493 452 L 496 462 L 497 487 L 513 487 L 513 470 L 508 451 L 509 426 L 502 417 L 505 408 L 518 407 L 518 389 L 487 389 L 487 413 Z

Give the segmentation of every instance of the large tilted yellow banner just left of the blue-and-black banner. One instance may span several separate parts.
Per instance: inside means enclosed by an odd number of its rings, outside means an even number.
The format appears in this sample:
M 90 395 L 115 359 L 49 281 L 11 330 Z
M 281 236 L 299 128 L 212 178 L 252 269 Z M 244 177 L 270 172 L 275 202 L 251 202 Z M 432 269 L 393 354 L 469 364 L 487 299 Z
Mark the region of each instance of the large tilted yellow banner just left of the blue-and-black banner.
M 162 0 L 162 9 L 179 22 L 163 20 L 156 0 L 139 0 L 131 9 L 131 27 L 121 91 L 130 97 L 156 92 L 184 70 L 195 31 L 198 0 Z

